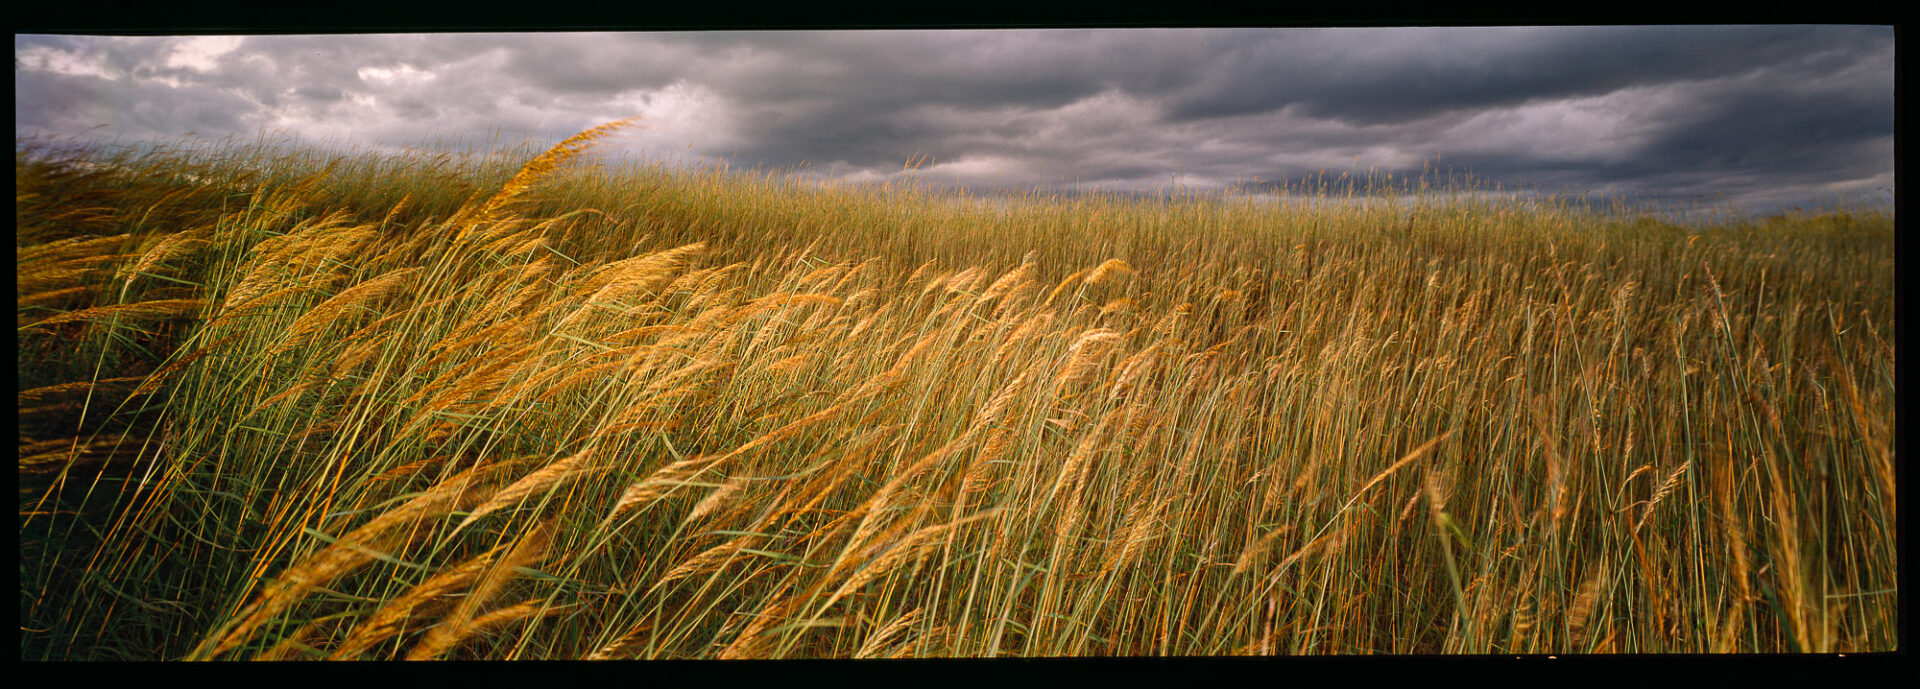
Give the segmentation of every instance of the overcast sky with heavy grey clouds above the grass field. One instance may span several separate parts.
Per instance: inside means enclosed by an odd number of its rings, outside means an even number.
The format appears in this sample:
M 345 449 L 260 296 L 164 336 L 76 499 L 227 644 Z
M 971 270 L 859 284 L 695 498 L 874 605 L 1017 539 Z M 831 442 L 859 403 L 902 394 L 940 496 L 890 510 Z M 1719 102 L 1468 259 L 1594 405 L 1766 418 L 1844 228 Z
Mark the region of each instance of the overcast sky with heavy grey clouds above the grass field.
M 15 136 L 557 142 L 841 180 L 1346 171 L 1747 207 L 1889 198 L 1891 27 L 15 35 Z

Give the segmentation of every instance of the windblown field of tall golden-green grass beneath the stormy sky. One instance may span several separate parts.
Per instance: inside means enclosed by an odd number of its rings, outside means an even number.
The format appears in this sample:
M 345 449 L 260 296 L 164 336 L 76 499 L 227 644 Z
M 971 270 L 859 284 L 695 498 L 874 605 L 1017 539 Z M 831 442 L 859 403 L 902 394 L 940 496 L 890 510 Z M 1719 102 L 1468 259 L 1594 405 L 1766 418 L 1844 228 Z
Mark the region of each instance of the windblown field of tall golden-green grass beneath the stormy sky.
M 1893 217 L 15 146 L 21 658 L 1899 645 Z

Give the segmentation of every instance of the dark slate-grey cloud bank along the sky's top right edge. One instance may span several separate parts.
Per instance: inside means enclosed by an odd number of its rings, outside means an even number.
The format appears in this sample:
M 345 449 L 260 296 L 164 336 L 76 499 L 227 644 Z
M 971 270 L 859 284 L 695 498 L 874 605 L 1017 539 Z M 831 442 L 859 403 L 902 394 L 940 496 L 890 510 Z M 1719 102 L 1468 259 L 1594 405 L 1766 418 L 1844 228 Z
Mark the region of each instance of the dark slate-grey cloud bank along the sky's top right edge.
M 1891 56 L 1870 27 L 1296 29 L 1223 36 L 1213 65 L 1175 90 L 1171 117 L 1294 106 L 1304 115 L 1404 123 L 1761 69 L 1818 75 Z

